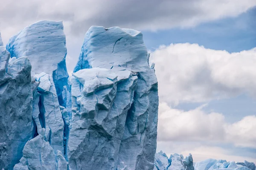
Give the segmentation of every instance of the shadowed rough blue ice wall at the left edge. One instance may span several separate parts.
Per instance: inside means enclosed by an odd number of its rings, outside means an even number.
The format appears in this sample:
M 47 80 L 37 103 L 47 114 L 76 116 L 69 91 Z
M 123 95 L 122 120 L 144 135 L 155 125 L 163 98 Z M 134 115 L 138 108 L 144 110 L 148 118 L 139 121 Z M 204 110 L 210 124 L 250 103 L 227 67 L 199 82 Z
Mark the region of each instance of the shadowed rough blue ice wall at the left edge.
M 2 45 L 2 44 L 1 44 Z M 27 57 L 9 63 L 0 46 L 0 169 L 12 169 L 31 139 L 32 83 Z

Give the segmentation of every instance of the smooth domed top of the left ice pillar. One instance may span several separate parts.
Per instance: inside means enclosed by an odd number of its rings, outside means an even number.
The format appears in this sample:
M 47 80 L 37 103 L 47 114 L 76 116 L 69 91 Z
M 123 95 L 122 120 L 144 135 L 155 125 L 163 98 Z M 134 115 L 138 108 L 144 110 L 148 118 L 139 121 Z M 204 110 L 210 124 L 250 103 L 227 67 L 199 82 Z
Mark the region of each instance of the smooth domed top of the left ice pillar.
M 52 76 L 59 68 L 61 74 L 67 77 L 65 57 L 67 54 L 66 36 L 62 22 L 43 20 L 23 28 L 18 34 L 11 37 L 6 45 L 11 57 L 30 59 L 32 74 L 45 72 Z M 63 71 L 62 71 L 63 70 Z

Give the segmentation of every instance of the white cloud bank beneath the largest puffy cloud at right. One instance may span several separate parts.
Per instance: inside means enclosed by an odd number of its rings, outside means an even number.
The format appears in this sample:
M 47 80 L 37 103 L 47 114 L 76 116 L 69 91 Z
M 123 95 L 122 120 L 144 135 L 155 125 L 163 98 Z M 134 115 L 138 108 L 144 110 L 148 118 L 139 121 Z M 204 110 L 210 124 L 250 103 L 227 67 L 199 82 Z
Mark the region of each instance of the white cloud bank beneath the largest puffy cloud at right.
M 159 142 L 211 142 L 256 148 L 256 116 L 245 116 L 228 123 L 221 113 L 205 113 L 201 106 L 182 111 L 159 105 L 157 140 Z

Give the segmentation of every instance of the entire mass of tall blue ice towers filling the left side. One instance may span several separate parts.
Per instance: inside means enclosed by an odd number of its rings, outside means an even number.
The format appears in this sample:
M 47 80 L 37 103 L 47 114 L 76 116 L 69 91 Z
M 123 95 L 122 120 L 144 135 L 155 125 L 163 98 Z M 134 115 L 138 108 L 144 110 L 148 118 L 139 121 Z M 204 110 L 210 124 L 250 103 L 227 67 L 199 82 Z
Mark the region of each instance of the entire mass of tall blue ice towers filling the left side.
M 66 55 L 62 22 L 6 47 L 0 36 L 0 169 L 153 170 L 157 78 L 141 32 L 90 27 L 72 75 Z

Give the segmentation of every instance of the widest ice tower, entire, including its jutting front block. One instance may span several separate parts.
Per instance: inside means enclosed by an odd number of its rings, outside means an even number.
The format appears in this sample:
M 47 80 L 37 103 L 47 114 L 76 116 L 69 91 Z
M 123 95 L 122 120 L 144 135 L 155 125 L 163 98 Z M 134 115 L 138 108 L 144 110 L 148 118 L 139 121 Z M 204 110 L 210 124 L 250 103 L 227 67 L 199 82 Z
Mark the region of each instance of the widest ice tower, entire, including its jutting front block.
M 87 31 L 74 68 L 75 78 L 71 79 L 71 168 L 154 168 L 158 95 L 154 67 L 149 67 L 148 58 L 139 31 L 98 26 Z M 91 78 L 87 85 L 82 80 L 86 77 L 76 75 L 79 70 L 95 68 L 111 70 L 118 77 L 129 71 L 130 77 L 120 82 L 111 77 Z

